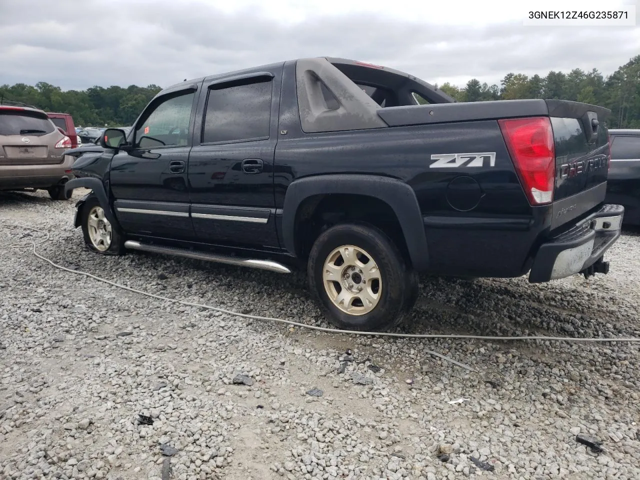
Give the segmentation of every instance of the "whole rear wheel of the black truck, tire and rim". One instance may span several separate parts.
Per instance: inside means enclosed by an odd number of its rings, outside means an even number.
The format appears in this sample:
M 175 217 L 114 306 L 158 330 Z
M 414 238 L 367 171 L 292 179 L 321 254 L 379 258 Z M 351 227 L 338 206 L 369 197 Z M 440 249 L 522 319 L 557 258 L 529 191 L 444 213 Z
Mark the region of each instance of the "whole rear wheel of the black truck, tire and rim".
M 324 231 L 308 260 L 310 290 L 338 328 L 384 332 L 415 302 L 417 276 L 378 228 L 346 223 Z

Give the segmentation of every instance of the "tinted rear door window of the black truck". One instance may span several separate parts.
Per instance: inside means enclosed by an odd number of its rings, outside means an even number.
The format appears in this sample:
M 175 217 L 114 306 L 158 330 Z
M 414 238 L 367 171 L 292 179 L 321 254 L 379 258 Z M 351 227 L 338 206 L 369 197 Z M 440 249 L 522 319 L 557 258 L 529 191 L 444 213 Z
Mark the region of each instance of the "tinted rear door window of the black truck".
M 209 90 L 202 143 L 269 138 L 271 77 Z

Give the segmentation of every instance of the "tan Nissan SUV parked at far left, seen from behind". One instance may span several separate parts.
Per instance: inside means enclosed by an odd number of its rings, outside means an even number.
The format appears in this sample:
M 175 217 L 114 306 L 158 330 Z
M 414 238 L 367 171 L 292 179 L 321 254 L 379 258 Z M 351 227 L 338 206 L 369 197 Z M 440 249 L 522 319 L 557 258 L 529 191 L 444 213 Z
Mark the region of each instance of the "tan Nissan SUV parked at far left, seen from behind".
M 72 145 L 43 110 L 0 106 L 0 190 L 45 189 L 53 200 L 70 198 Z

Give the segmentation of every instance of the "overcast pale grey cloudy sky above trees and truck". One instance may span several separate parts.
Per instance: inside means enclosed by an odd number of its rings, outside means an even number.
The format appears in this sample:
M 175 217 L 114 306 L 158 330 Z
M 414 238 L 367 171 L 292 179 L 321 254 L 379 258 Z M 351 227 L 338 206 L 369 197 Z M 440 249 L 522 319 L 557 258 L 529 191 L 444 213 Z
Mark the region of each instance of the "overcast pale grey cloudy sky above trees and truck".
M 333 56 L 429 83 L 597 68 L 640 54 L 640 0 L 0 0 L 0 84 L 169 86 Z M 605 7 L 604 7 L 605 5 Z M 530 10 L 636 6 L 637 26 L 524 26 Z

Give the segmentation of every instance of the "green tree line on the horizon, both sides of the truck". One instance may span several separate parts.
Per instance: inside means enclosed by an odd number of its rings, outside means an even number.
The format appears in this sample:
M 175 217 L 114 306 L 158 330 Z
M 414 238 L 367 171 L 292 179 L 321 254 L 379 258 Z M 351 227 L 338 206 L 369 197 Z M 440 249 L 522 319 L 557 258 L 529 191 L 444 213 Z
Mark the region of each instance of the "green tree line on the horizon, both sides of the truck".
M 585 102 L 611 109 L 610 128 L 640 128 L 640 55 L 605 77 L 595 68 L 584 72 L 540 75 L 507 74 L 500 85 L 471 79 L 463 87 L 444 83 L 439 87 L 459 102 L 515 99 L 560 99 Z M 0 102 L 24 102 L 45 111 L 70 113 L 76 125 L 131 125 L 148 102 L 161 90 L 157 85 L 93 86 L 87 90 L 61 90 L 38 82 L 0 86 Z

